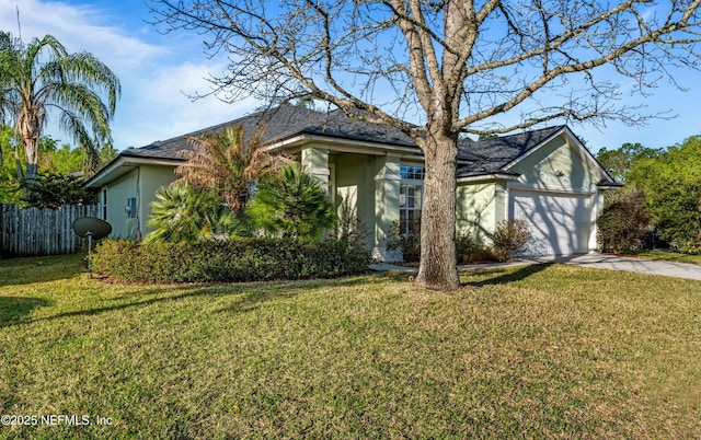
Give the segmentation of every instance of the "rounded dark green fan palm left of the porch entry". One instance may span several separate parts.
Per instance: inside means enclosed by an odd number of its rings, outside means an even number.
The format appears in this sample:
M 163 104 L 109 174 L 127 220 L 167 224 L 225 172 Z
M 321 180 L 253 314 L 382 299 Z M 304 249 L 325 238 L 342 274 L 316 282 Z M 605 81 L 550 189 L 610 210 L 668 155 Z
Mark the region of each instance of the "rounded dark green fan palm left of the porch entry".
M 336 221 L 329 192 L 297 166 L 263 181 L 248 213 L 266 234 L 299 240 L 319 240 Z

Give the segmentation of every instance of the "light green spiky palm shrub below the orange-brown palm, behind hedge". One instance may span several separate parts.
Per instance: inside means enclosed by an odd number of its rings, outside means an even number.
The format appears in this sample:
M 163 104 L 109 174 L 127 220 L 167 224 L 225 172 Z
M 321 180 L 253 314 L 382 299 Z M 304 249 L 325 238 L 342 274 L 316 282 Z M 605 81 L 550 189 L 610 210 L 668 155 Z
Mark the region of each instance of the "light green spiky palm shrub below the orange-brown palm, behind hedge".
M 146 243 L 197 243 L 245 235 L 245 223 L 212 194 L 174 183 L 156 192 Z

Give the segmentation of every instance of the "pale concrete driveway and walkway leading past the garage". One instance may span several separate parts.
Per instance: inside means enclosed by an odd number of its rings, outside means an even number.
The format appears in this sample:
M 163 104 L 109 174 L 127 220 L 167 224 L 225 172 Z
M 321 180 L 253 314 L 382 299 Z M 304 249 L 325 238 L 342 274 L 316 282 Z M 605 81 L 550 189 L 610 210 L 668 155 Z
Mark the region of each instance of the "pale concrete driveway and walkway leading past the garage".
M 564 263 L 574 266 L 594 267 L 597 269 L 636 271 L 640 274 L 662 275 L 665 277 L 688 278 L 701 280 L 701 266 L 686 263 L 653 262 L 650 259 L 632 258 L 618 255 L 586 254 L 573 256 L 547 256 L 538 258 L 525 258 L 518 262 L 504 264 L 481 264 L 459 266 L 459 269 L 484 269 L 491 267 L 524 266 L 542 263 Z M 375 270 L 405 270 L 416 271 L 416 267 L 395 266 L 380 263 L 371 266 Z

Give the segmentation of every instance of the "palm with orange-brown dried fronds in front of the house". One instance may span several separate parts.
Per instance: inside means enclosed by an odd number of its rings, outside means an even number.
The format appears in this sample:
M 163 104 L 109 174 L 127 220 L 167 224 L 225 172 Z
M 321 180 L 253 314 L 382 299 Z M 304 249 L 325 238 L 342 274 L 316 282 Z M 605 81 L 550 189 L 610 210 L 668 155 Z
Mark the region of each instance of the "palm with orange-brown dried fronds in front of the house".
M 240 126 L 227 127 L 223 134 L 191 138 L 192 150 L 180 152 L 187 161 L 175 169 L 181 176 L 177 182 L 212 190 L 231 210 L 243 211 L 258 178 L 291 163 L 290 159 L 265 150 L 261 143 L 263 132 L 264 127 L 258 126 L 248 143 Z

